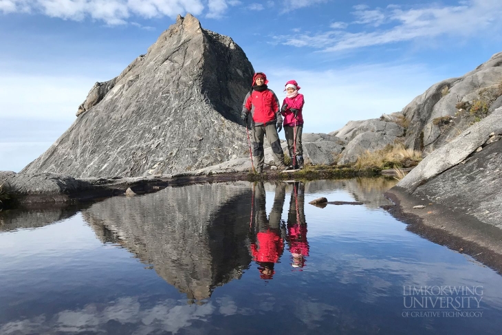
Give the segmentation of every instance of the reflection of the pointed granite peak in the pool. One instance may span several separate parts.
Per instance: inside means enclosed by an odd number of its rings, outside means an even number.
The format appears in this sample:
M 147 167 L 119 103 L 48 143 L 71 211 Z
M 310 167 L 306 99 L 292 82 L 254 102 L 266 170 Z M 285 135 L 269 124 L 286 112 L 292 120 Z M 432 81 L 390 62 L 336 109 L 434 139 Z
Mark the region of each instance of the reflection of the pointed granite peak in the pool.
M 113 197 L 83 211 L 102 241 L 118 242 L 189 299 L 241 277 L 248 252 L 249 184 L 165 188 Z

